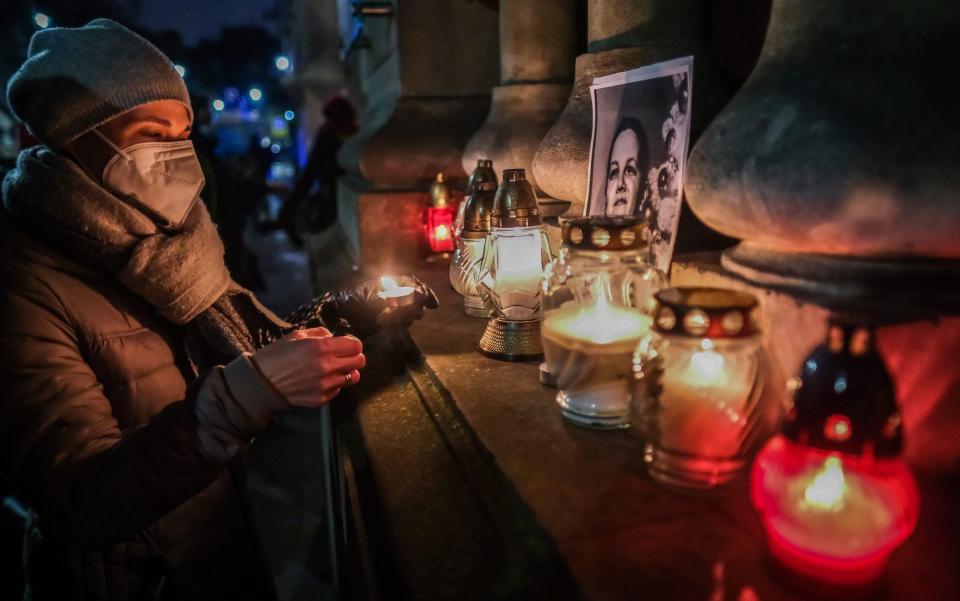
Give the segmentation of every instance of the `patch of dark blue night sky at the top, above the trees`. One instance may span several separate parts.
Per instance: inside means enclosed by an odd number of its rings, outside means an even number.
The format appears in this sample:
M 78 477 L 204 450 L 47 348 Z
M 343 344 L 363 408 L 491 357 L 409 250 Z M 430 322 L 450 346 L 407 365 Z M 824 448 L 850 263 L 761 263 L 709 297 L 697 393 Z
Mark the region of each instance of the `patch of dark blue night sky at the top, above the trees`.
M 140 24 L 148 29 L 176 29 L 187 44 L 216 37 L 230 25 L 263 25 L 275 31 L 275 23 L 263 13 L 277 0 L 141 0 Z

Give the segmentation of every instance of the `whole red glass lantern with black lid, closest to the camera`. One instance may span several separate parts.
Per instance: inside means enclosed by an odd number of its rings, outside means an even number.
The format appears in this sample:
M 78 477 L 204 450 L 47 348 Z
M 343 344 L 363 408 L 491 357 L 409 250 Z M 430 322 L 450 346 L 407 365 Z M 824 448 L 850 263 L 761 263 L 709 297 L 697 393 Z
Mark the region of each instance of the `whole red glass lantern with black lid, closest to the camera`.
M 830 324 L 803 363 L 783 434 L 753 466 L 771 554 L 812 582 L 871 583 L 917 523 L 893 382 L 873 340 L 869 325 Z

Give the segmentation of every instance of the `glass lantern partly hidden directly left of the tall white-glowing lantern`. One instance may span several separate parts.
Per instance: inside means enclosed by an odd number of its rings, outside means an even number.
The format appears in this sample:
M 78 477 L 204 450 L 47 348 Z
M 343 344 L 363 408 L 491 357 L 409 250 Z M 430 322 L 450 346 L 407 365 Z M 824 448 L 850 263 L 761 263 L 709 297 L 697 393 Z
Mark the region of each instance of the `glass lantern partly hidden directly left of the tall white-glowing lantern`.
M 490 317 L 490 306 L 477 284 L 496 189 L 496 184 L 491 181 L 480 182 L 461 203 L 466 209 L 457 249 L 450 261 L 450 284 L 463 297 L 463 310 L 470 317 Z

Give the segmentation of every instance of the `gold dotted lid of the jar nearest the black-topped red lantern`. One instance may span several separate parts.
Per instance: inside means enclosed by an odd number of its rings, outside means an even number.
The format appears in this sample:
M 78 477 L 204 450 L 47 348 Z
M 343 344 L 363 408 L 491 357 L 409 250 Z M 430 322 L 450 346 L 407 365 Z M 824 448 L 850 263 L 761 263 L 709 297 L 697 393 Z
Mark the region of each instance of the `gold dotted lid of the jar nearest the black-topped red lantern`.
M 746 338 L 756 334 L 751 312 L 757 299 L 724 288 L 665 288 L 654 294 L 653 327 L 689 338 Z

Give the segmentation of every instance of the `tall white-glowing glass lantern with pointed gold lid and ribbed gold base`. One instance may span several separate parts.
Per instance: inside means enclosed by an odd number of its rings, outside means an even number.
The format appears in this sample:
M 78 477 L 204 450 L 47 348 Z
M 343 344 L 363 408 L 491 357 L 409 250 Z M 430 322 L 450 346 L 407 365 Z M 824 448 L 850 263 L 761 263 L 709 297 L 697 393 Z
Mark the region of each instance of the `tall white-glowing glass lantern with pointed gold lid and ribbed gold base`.
M 550 240 L 523 169 L 507 169 L 494 197 L 478 289 L 494 310 L 480 352 L 504 361 L 535 359 L 540 344 L 540 282 Z

